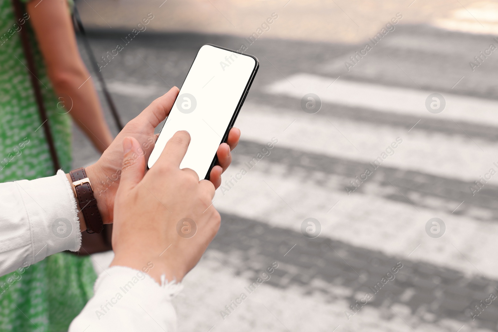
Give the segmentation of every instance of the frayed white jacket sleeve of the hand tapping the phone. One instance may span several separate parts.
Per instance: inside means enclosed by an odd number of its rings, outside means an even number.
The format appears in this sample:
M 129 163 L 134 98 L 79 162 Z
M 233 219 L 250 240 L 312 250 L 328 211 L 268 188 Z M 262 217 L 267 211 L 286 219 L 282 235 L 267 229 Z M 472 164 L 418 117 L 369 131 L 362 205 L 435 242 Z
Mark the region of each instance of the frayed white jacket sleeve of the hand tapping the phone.
M 153 268 L 149 263 L 144 271 Z M 94 297 L 71 323 L 69 332 L 176 331 L 176 313 L 171 299 L 181 284 L 162 281 L 147 273 L 113 266 L 102 272 Z

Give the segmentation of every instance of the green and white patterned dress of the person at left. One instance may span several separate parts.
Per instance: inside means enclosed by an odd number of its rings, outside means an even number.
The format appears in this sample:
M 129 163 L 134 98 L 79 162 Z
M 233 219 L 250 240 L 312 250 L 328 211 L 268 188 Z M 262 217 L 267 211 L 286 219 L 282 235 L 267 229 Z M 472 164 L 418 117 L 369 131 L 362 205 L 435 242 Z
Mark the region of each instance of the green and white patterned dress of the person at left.
M 20 25 L 10 0 L 0 0 L 0 182 L 53 175 L 19 28 L 31 36 L 61 167 L 71 170 L 70 116 L 52 89 L 29 19 Z M 0 277 L 0 331 L 67 331 L 93 295 L 95 279 L 91 258 L 69 253 L 49 256 L 22 274 Z

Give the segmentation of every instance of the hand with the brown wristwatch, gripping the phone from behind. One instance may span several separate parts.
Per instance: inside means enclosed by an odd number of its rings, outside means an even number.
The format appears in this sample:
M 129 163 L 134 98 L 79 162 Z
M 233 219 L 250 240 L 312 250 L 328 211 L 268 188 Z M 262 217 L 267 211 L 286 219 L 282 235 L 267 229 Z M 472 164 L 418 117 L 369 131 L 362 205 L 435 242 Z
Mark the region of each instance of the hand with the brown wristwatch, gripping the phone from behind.
M 140 145 L 140 153 L 145 161 L 148 160 L 158 135 L 154 135 L 154 129 L 166 118 L 178 95 L 178 88 L 173 87 L 165 95 L 154 100 L 138 116 L 129 121 L 123 130 L 114 139 L 112 144 L 102 154 L 100 159 L 93 165 L 85 168 L 88 178 L 92 182 L 94 196 L 102 215 L 104 223 L 113 222 L 114 199 L 121 178 L 123 164 L 123 139 L 133 137 Z M 210 181 L 215 188 L 221 184 L 221 174 L 232 162 L 230 153 L 239 143 L 241 132 L 232 128 L 228 135 L 227 143 L 222 143 L 217 151 L 219 165 L 213 167 L 210 173 Z M 128 162 L 136 160 L 135 157 Z M 144 170 L 145 170 L 145 166 Z

